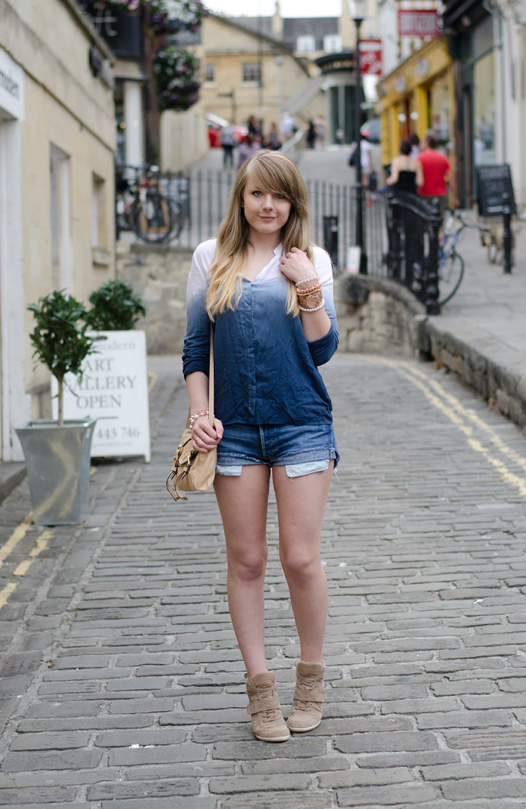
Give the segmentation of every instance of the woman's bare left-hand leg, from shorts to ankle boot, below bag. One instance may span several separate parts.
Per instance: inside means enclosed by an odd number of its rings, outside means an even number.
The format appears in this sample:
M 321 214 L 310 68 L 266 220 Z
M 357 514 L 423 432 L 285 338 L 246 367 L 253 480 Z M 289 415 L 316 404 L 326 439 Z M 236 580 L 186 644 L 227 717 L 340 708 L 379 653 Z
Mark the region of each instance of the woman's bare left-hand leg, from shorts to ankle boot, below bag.
M 244 466 L 240 477 L 216 475 L 227 540 L 228 608 L 248 676 L 267 671 L 263 588 L 268 556 L 266 539 L 269 467 Z

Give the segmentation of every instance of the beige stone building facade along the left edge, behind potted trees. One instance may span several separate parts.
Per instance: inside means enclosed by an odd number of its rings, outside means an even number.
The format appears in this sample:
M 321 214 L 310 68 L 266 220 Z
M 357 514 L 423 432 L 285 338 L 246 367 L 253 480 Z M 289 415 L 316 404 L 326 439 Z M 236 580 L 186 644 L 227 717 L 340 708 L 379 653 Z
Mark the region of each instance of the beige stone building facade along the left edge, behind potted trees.
M 111 61 L 74 0 L 0 0 L 0 460 L 49 414 L 28 304 L 114 275 Z

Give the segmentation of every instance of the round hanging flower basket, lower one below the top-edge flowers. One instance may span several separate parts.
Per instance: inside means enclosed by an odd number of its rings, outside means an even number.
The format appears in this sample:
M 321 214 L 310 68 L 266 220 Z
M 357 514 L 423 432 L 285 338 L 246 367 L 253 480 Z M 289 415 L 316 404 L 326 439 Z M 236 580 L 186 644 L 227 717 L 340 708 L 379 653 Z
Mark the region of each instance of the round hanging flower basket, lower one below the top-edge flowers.
M 199 60 L 175 45 L 161 48 L 153 66 L 157 78 L 159 109 L 184 111 L 199 97 Z

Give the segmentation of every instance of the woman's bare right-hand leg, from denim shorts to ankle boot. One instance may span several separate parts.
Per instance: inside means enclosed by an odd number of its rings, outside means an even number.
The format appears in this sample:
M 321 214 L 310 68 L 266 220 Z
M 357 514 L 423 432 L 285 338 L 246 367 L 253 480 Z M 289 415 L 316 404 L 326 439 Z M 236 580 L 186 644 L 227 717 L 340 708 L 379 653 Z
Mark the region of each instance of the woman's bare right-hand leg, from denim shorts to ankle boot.
M 286 477 L 272 470 L 278 503 L 279 555 L 291 593 L 301 659 L 321 661 L 327 621 L 327 579 L 320 560 L 321 523 L 334 462 L 325 472 Z

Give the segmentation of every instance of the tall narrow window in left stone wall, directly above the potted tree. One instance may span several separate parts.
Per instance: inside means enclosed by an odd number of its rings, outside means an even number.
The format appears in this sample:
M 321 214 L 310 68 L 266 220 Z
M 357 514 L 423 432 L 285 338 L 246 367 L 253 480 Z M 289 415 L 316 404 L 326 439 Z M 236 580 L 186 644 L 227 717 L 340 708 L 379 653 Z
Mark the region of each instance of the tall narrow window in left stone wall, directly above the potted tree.
M 70 286 L 70 158 L 51 144 L 49 161 L 51 283 Z

